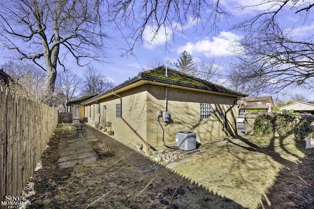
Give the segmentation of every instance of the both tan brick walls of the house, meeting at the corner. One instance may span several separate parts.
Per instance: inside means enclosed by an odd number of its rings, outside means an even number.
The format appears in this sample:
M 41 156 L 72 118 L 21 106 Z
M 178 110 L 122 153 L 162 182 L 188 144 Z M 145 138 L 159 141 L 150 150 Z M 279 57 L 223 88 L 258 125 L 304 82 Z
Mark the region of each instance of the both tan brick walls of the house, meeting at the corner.
M 235 97 L 211 93 L 199 93 L 188 90 L 167 88 L 168 112 L 171 122 L 166 125 L 160 117 L 159 125 L 157 111 L 165 111 L 165 87 L 145 85 L 130 91 L 120 93 L 122 96 L 122 116 L 136 132 L 156 149 L 175 143 L 176 132 L 191 131 L 199 135 L 201 141 L 222 139 L 227 136 L 225 128 L 225 113 L 227 114 L 227 129 L 231 135 L 236 133 L 237 107 L 233 106 Z M 119 97 L 113 95 L 101 101 L 101 124 L 104 121 L 104 105 L 106 106 L 106 121 L 112 122 L 114 135 L 133 144 L 142 141 L 131 131 L 121 118 L 116 117 L 116 104 Z M 211 104 L 211 117 L 200 118 L 200 103 Z M 93 109 L 93 108 L 92 108 Z M 93 115 L 93 114 L 92 114 Z M 143 144 L 143 143 L 142 143 Z M 143 150 L 147 147 L 143 144 Z

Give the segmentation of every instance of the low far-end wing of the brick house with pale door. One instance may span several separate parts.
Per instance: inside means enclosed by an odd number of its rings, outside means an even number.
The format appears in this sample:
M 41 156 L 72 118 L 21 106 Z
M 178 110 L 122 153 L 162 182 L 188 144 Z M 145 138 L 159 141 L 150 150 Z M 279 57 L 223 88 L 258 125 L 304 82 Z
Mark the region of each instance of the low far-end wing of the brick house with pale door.
M 87 122 L 87 116 L 85 116 L 87 111 L 85 111 L 83 103 L 96 95 L 97 94 L 88 94 L 68 102 L 67 106 L 71 106 L 70 112 L 72 113 L 72 119 Z

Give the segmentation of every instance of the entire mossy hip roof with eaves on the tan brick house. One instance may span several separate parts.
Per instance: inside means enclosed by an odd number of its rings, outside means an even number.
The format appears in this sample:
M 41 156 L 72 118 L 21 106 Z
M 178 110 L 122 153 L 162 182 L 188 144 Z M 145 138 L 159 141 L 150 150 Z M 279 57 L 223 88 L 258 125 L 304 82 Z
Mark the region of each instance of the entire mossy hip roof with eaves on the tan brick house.
M 167 77 L 165 76 L 166 67 L 164 65 L 158 68 L 140 72 L 137 76 L 113 87 L 112 89 L 98 94 L 97 96 L 87 100 L 84 104 L 91 103 L 94 99 L 102 99 L 113 92 L 119 93 L 144 84 L 152 84 L 157 86 L 173 86 L 181 89 L 189 89 L 194 91 L 210 91 L 213 93 L 228 94 L 235 97 L 245 97 L 244 93 L 236 92 L 226 87 L 196 78 L 194 76 L 184 74 L 178 70 L 167 68 Z

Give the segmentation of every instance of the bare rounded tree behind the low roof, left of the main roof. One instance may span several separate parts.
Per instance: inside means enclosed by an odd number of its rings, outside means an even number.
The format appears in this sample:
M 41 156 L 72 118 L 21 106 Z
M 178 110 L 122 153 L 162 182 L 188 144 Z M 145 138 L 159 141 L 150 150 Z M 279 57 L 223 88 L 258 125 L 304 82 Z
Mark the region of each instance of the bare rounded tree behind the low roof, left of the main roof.
M 93 68 L 88 67 L 84 71 L 83 82 L 82 82 L 82 95 L 92 94 L 92 93 L 103 93 L 114 87 L 114 83 L 102 73 Z

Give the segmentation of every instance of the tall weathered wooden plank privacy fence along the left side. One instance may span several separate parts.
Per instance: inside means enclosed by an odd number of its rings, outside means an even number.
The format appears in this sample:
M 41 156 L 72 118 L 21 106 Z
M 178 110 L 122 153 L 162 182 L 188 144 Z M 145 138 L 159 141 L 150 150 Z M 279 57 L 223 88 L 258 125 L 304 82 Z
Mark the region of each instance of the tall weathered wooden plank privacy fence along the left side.
M 0 87 L 0 201 L 20 196 L 58 123 L 58 111 Z

